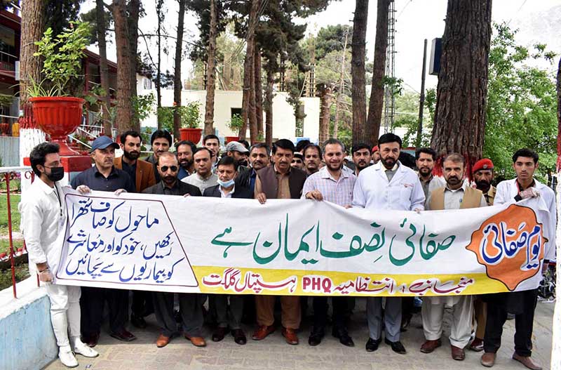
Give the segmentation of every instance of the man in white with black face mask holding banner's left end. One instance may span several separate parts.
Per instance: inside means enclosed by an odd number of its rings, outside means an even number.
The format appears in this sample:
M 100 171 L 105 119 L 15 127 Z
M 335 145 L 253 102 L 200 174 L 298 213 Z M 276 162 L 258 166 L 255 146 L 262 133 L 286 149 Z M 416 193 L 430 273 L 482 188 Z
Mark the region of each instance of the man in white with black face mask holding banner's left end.
M 80 287 L 53 282 L 62 248 L 56 240 L 64 232 L 66 218 L 64 194 L 58 183 L 64 178 L 65 169 L 58 151 L 57 144 L 42 143 L 29 154 L 37 178 L 22 200 L 21 225 L 30 267 L 36 266 L 50 300 L 50 321 L 59 348 L 58 357 L 65 366 L 75 367 L 78 362 L 73 349 L 85 357 L 96 357 L 97 352 L 80 340 Z

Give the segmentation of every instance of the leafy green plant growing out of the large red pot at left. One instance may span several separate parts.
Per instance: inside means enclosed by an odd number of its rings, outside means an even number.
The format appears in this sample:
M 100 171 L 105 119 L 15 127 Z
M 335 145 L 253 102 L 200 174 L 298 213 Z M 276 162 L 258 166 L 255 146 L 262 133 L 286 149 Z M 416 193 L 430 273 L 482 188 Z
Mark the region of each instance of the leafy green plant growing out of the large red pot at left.
M 83 50 L 88 46 L 90 25 L 85 22 L 70 22 L 71 27 L 53 37 L 53 29 L 48 28 L 43 38 L 35 42 L 38 51 L 33 55 L 43 57 L 45 79 L 39 84 L 33 79 L 27 93 L 30 96 L 65 96 L 71 79 L 79 77 L 82 67 Z M 44 87 L 46 82 L 52 88 Z

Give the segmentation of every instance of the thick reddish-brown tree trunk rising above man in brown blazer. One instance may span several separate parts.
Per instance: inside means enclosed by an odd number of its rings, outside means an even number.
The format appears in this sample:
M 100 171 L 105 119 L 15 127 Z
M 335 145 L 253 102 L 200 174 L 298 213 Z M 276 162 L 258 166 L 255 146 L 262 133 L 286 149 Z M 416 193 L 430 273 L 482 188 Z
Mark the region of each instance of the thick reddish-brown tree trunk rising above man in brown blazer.
M 121 131 L 133 130 L 133 112 L 130 103 L 130 42 L 125 0 L 113 0 L 115 46 L 117 49 L 117 114 L 115 126 Z

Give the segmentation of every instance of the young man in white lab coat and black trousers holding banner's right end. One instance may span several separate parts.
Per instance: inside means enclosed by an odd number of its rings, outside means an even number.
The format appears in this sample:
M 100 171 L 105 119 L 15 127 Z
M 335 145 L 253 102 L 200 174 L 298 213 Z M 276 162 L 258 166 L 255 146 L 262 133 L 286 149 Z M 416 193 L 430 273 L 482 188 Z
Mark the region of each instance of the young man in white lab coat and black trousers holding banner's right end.
M 548 239 L 542 266 L 547 266 L 550 259 L 555 258 L 555 193 L 546 185 L 534 178 L 538 168 L 538 154 L 533 150 L 520 149 L 513 155 L 513 168 L 516 178 L 502 181 L 496 187 L 494 204 L 510 204 L 522 199 L 540 197 L 549 210 L 549 220 L 544 236 Z M 513 359 L 528 369 L 539 370 L 541 366 L 532 362 L 532 331 L 534 329 L 534 310 L 536 309 L 537 289 L 515 291 L 511 293 L 495 293 L 486 296 L 487 325 L 483 347 L 485 353 L 481 357 L 483 366 L 494 365 L 496 352 L 501 346 L 503 324 L 508 312 L 515 314 L 516 332 L 514 336 Z

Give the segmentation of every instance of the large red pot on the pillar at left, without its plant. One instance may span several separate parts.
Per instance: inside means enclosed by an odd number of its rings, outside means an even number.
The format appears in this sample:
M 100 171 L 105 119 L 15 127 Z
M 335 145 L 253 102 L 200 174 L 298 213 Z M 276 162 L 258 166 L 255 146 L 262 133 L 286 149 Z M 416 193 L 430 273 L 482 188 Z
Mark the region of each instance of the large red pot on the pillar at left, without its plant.
M 61 156 L 79 155 L 68 147 L 67 136 L 82 123 L 82 98 L 68 96 L 39 96 L 30 98 L 33 118 L 50 139 L 60 145 Z

